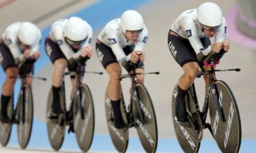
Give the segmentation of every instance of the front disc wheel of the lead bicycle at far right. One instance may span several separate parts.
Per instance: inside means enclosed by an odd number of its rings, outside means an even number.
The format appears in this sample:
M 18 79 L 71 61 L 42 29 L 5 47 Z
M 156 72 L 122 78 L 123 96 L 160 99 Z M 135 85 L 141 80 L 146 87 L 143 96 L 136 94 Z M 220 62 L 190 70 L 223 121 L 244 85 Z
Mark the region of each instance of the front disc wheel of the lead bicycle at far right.
M 210 92 L 210 120 L 212 133 L 222 152 L 239 152 L 242 129 L 236 99 L 229 86 L 223 81 L 216 81 L 216 89 Z M 216 109 L 216 94 L 223 109 L 225 121 L 221 120 Z

